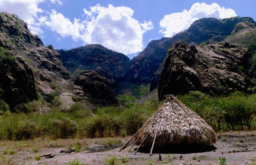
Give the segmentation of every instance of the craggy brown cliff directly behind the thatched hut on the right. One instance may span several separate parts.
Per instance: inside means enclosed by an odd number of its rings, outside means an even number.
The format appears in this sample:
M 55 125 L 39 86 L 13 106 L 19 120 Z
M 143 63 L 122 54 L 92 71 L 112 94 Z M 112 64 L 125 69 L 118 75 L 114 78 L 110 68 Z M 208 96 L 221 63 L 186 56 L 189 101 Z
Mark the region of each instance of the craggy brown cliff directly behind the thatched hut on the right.
M 255 86 L 249 70 L 252 54 L 246 47 L 218 43 L 188 47 L 183 42 L 169 49 L 161 70 L 159 100 L 167 94 L 202 91 L 225 95 L 232 91 L 248 91 Z

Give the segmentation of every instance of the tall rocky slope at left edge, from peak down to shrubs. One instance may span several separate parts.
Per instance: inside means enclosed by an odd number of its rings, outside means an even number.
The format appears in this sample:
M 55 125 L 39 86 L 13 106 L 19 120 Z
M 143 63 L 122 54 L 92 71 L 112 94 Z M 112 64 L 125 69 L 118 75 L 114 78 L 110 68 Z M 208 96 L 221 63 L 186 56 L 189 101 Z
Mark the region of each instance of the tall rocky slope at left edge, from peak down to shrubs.
M 51 45 L 44 47 L 17 15 L 0 13 L 1 100 L 10 107 L 49 95 L 52 82 L 68 79 L 60 54 Z

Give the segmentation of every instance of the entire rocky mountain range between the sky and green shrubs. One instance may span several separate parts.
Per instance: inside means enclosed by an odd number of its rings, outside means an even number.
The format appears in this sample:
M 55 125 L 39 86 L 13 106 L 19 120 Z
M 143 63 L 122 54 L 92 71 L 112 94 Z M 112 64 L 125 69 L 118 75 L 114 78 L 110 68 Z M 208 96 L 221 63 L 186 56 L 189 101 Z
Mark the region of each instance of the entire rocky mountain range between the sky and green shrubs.
M 44 97 L 47 102 L 60 98 L 61 109 L 68 109 L 76 99 L 111 106 L 117 104 L 111 86 L 122 91 L 122 84 L 148 84 L 152 80 L 154 89 L 160 77 L 159 98 L 166 93 L 190 90 L 212 95 L 248 91 L 256 77 L 255 30 L 255 22 L 248 17 L 201 19 L 172 38 L 150 42 L 130 61 L 124 54 L 97 44 L 69 51 L 56 51 L 52 45 L 45 47 L 17 15 L 3 12 L 0 13 L 0 104 L 6 102 L 15 109 Z M 180 40 L 184 43 L 169 49 Z M 218 43 L 222 40 L 232 44 Z M 204 44 L 189 47 L 185 43 Z M 70 78 L 65 67 L 76 76 Z

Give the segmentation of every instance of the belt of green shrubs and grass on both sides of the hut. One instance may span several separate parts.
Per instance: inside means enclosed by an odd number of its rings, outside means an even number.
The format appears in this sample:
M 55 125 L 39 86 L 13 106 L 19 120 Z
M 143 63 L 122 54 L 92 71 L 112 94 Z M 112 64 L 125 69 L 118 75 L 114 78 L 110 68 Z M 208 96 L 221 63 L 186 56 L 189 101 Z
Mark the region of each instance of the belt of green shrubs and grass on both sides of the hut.
M 256 129 L 255 94 L 246 95 L 237 91 L 227 97 L 211 97 L 199 91 L 191 91 L 187 95 L 179 95 L 178 98 L 202 116 L 216 131 Z M 99 107 L 94 113 L 92 107 L 79 102 L 67 112 L 52 107 L 47 113 L 10 113 L 6 106 L 2 106 L 0 139 L 102 138 L 132 135 L 159 106 L 157 100 L 139 104 L 134 98 L 125 96 L 120 97 L 120 102 L 118 107 Z M 35 109 L 38 109 L 38 105 L 36 104 Z

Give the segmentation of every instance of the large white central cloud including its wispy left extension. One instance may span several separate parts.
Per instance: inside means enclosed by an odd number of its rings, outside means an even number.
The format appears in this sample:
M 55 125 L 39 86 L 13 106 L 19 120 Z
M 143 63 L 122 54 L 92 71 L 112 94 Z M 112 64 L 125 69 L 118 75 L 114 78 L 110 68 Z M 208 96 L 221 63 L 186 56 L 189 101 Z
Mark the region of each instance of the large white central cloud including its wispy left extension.
M 132 18 L 134 11 L 125 6 L 108 7 L 97 4 L 84 9 L 86 19 L 81 21 L 65 18 L 61 13 L 52 10 L 45 20 L 45 25 L 61 36 L 72 36 L 74 40 L 83 40 L 84 43 L 99 43 L 124 54 L 142 51 L 143 33 L 153 29 L 151 21 L 140 24 Z

